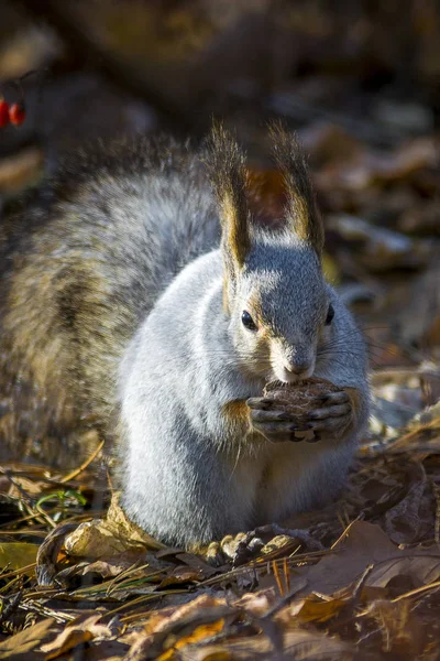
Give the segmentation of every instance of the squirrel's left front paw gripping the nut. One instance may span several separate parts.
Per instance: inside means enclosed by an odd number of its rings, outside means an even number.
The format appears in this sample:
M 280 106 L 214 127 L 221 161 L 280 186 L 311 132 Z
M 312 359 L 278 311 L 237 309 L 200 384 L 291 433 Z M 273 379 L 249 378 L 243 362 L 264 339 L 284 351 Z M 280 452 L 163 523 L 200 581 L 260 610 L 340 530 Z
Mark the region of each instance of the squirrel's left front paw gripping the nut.
M 254 397 L 246 400 L 246 404 L 251 410 L 250 416 L 253 429 L 265 436 L 267 441 L 276 443 L 293 441 L 296 443 L 304 441 L 304 433 L 311 429 L 308 427 L 308 423 L 304 419 L 286 411 L 283 408 L 283 402 L 276 402 L 264 397 Z M 314 433 L 310 435 L 314 435 Z

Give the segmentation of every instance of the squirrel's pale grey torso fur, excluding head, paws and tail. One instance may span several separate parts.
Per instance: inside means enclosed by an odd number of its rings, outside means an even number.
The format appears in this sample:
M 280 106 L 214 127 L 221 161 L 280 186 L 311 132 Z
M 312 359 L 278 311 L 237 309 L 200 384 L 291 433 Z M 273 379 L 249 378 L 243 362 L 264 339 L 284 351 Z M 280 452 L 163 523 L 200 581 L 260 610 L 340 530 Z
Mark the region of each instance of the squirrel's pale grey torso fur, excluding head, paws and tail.
M 328 289 L 339 316 L 336 328 L 358 333 Z M 221 254 L 213 251 L 169 285 L 122 362 L 123 505 L 140 525 L 174 543 L 208 542 L 323 505 L 341 488 L 362 429 L 343 443 L 234 436 L 223 424 L 223 405 L 261 394 L 264 380 L 241 370 L 228 339 L 229 323 L 222 308 Z M 345 368 L 318 360 L 316 375 L 358 387 L 364 360 L 358 354 Z M 173 368 L 166 375 L 165 365 Z M 362 415 L 365 420 L 366 402 Z

